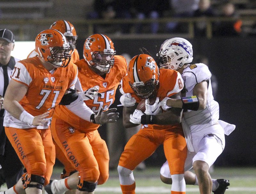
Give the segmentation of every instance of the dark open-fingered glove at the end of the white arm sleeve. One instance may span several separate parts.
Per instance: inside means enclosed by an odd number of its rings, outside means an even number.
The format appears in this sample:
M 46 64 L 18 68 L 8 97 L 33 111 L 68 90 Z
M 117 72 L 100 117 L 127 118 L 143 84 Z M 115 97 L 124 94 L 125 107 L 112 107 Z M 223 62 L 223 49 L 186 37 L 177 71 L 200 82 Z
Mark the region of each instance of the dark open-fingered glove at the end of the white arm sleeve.
M 116 110 L 116 108 L 110 108 L 103 112 L 103 108 L 101 108 L 94 116 L 95 123 L 101 125 L 106 123 L 116 123 L 116 120 L 119 118 L 119 113 L 116 112 Z

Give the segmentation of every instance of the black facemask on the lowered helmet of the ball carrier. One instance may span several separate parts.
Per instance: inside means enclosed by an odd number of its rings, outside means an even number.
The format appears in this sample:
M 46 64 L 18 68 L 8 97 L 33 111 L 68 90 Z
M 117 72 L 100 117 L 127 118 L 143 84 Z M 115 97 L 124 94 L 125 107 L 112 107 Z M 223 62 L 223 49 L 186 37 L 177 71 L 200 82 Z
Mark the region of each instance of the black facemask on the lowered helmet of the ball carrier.
M 129 85 L 140 98 L 148 99 L 156 96 L 159 80 L 150 79 L 145 84 L 142 81 L 133 84 L 129 82 Z

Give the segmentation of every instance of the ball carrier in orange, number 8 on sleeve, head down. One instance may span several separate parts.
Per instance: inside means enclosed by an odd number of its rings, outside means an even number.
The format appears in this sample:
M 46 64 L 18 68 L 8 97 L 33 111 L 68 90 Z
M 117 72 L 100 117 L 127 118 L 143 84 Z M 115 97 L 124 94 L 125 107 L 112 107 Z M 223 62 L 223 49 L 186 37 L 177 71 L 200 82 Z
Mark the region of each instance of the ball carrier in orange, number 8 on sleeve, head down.
M 126 128 L 142 124 L 138 133 L 132 136 L 124 147 L 118 173 L 122 192 L 135 193 L 133 170 L 147 159 L 156 148 L 163 144 L 172 175 L 172 194 L 185 194 L 184 163 L 187 157 L 187 145 L 181 127 L 181 108 L 171 108 L 161 113 L 160 101 L 166 96 L 180 98 L 183 80 L 177 71 L 160 69 L 155 60 L 146 54 L 134 56 L 128 66 L 128 75 L 121 82 L 120 92 L 126 104 L 129 98 L 136 102 L 124 107 L 123 122 Z M 149 99 L 156 97 L 153 105 Z M 137 110 L 138 103 L 145 100 L 146 110 Z M 122 101 L 122 100 L 120 100 Z M 122 103 L 122 102 L 121 102 Z M 131 105 L 131 104 L 130 104 Z

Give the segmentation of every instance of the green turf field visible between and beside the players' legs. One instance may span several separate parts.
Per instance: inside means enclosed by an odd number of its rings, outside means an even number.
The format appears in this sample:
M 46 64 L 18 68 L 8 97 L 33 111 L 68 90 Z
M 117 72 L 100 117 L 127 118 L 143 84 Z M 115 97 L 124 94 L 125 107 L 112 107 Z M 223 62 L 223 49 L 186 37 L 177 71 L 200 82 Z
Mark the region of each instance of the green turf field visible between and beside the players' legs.
M 166 185 L 160 181 L 160 167 L 147 167 L 144 171 L 134 170 L 136 181 L 136 194 L 170 194 L 171 185 Z M 58 179 L 62 168 L 54 168 L 52 179 Z M 256 194 L 256 168 L 214 168 L 211 173 L 212 178 L 226 178 L 230 180 L 229 189 L 225 193 L 229 194 Z M 1 191 L 6 190 L 6 185 L 1 187 Z M 117 170 L 110 171 L 107 183 L 99 185 L 95 194 L 115 194 L 121 193 Z M 199 194 L 198 186 L 187 185 L 186 193 Z

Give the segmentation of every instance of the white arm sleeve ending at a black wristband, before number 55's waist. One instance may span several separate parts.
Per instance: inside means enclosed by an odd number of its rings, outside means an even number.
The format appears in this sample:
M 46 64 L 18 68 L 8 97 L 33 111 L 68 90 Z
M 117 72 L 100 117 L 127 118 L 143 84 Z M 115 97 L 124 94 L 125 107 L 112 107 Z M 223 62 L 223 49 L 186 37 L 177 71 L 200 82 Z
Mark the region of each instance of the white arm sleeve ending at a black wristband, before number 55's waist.
M 66 105 L 66 107 L 76 116 L 91 122 L 90 118 L 94 113 L 89 107 L 86 106 L 84 101 L 81 101 L 80 98 L 77 98 L 74 102 L 71 102 L 70 105 Z

